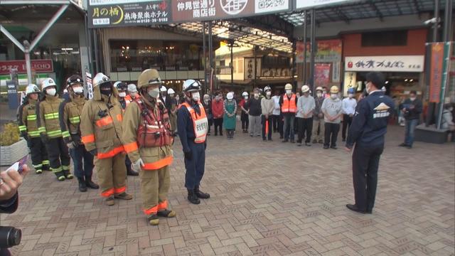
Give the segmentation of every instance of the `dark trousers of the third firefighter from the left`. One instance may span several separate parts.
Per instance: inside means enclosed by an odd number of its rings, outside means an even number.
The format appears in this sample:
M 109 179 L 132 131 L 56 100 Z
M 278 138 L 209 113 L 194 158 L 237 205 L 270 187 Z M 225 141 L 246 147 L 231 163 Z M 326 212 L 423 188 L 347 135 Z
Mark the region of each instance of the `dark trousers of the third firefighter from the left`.
M 70 155 L 73 159 L 74 175 L 77 178 L 92 178 L 93 156 L 85 149 L 85 146 L 79 145 L 70 149 Z

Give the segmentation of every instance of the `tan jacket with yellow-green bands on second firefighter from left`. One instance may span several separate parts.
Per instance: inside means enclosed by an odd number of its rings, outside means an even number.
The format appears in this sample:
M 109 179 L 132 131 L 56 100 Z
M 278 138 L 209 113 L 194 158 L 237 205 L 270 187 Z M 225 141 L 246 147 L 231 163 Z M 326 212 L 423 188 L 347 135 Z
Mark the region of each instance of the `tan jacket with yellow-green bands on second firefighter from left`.
M 58 108 L 61 102 L 62 99 L 58 96 L 45 95 L 44 100 L 39 102 L 36 107 L 38 131 L 40 134 L 46 134 L 50 139 L 62 137 L 58 119 Z

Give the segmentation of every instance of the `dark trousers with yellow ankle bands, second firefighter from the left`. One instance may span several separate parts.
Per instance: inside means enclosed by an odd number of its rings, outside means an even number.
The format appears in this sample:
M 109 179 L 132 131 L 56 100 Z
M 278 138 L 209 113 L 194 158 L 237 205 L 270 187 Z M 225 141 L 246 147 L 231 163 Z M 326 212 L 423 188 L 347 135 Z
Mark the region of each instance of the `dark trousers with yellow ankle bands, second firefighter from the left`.
M 62 137 L 49 139 L 45 147 L 48 150 L 50 169 L 54 173 L 70 170 L 70 154 Z

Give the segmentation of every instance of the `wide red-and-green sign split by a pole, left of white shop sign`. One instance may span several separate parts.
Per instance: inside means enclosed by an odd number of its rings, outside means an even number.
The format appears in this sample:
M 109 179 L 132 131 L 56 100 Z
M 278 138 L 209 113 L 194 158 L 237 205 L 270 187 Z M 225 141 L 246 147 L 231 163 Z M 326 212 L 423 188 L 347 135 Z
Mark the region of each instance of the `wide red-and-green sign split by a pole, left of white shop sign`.
M 340 62 L 341 61 L 341 40 L 317 41 L 318 49 L 314 58 L 315 62 Z M 310 62 L 310 43 L 306 43 L 306 62 Z M 304 42 L 296 42 L 296 63 L 304 63 Z

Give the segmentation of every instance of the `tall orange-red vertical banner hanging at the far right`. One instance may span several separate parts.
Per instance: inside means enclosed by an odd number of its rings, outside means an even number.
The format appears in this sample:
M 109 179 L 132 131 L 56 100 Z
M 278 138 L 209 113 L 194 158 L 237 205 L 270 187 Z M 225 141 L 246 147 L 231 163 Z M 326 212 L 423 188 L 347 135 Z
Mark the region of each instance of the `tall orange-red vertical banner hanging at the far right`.
M 432 69 L 429 77 L 429 102 L 439 103 L 443 61 L 444 43 L 432 43 Z

